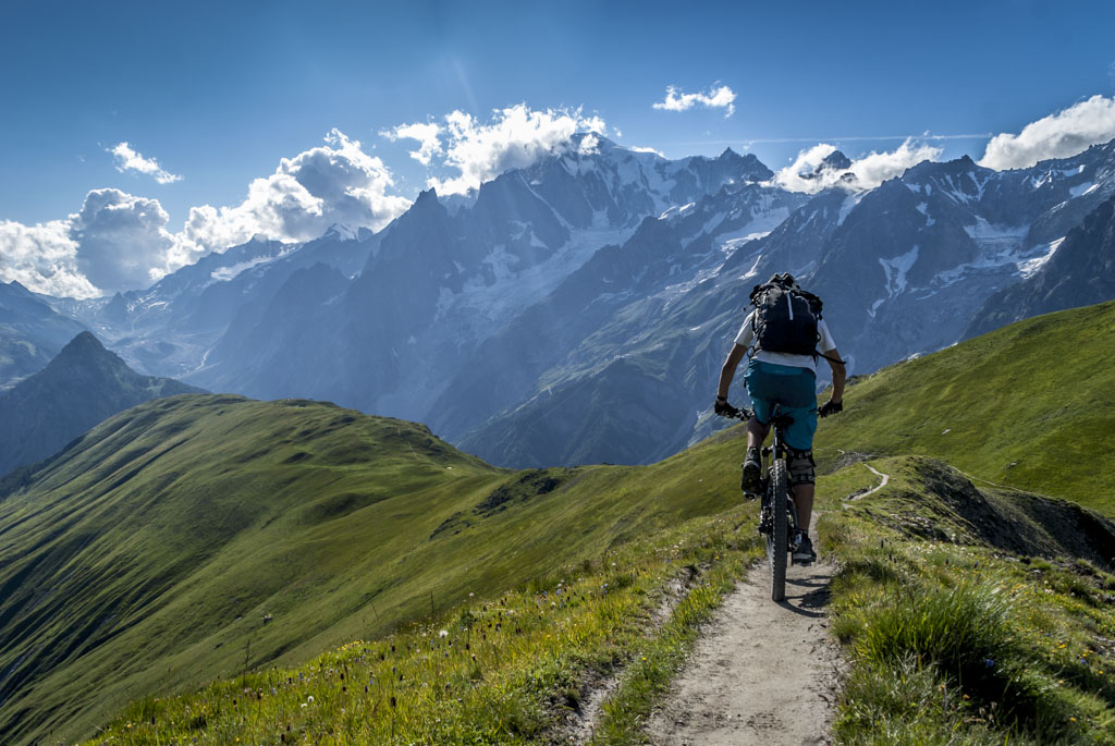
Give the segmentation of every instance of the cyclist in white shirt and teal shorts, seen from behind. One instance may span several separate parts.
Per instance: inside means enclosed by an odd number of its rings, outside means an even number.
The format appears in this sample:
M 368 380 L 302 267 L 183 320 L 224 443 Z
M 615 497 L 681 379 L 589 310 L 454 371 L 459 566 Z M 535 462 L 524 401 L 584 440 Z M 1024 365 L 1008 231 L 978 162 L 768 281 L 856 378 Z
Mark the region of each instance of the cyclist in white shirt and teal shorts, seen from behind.
M 789 273 L 776 274 L 772 278 L 772 282 L 775 281 L 785 282 L 788 287 L 799 290 Z M 817 559 L 808 536 L 815 482 L 813 434 L 817 428 L 818 415 L 827 417 L 843 409 L 846 370 L 828 327 L 823 319 L 817 319 L 817 348 L 833 374 L 832 396 L 817 409 L 816 355 L 750 350 L 756 342 L 754 321 L 759 310 L 759 308 L 753 309 L 744 319 L 744 324 L 736 335 L 735 345 L 728 352 L 728 359 L 720 369 L 720 386 L 717 390 L 715 409 L 718 415 L 733 416 L 738 413 L 738 409 L 728 404 L 728 388 L 731 386 L 739 362 L 750 351 L 750 359 L 744 372 L 744 385 L 750 394 L 755 416 L 747 423 L 747 457 L 744 461 L 740 486 L 745 494 L 752 496 L 759 491 L 762 477 L 759 449 L 770 430 L 770 410 L 775 404 L 780 404 L 782 413 L 794 419 L 785 434 L 789 452 L 787 467 L 791 492 L 801 525 L 801 543 L 794 550 L 794 561 L 813 562 Z

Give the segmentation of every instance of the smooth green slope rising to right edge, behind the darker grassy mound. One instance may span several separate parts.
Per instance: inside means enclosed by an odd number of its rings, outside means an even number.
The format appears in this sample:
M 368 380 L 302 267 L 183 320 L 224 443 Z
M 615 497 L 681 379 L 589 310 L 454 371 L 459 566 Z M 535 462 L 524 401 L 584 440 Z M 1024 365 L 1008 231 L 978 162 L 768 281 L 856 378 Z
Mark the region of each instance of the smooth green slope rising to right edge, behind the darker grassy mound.
M 885 368 L 818 444 L 925 454 L 1115 515 L 1115 302 L 1050 313 Z

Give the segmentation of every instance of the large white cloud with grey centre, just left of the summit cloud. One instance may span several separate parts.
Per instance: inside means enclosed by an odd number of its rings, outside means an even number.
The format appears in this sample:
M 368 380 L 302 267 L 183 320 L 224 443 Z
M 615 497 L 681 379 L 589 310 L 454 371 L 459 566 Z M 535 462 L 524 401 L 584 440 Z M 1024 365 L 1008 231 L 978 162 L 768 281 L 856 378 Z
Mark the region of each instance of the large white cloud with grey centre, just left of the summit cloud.
M 256 234 L 308 241 L 338 223 L 378 231 L 410 206 L 388 193 L 394 186 L 382 161 L 334 128 L 324 146 L 282 158 L 275 173 L 254 180 L 241 204 L 191 209 L 181 238 L 188 251 L 204 253 Z

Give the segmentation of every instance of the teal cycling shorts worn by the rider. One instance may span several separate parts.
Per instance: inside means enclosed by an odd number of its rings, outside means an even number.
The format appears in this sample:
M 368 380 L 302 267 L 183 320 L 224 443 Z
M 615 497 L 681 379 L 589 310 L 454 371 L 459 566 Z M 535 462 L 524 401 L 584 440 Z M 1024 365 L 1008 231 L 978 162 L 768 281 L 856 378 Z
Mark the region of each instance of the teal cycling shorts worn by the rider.
M 817 377 L 812 370 L 750 360 L 744 385 L 759 423 L 769 424 L 770 410 L 780 404 L 782 414 L 794 418 L 785 433 L 786 445 L 796 450 L 813 449 L 813 434 L 817 430 Z

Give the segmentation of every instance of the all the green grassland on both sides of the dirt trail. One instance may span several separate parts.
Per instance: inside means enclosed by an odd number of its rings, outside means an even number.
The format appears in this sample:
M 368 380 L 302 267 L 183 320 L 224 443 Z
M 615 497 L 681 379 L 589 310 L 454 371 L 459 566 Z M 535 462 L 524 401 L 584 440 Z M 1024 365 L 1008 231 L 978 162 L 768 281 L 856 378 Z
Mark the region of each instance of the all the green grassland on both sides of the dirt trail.
M 1031 319 L 823 420 L 841 743 L 1105 743 L 1113 331 Z M 613 681 L 595 743 L 639 743 L 760 555 L 741 450 L 513 472 L 324 403 L 136 407 L 0 484 L 0 739 L 545 742 Z

